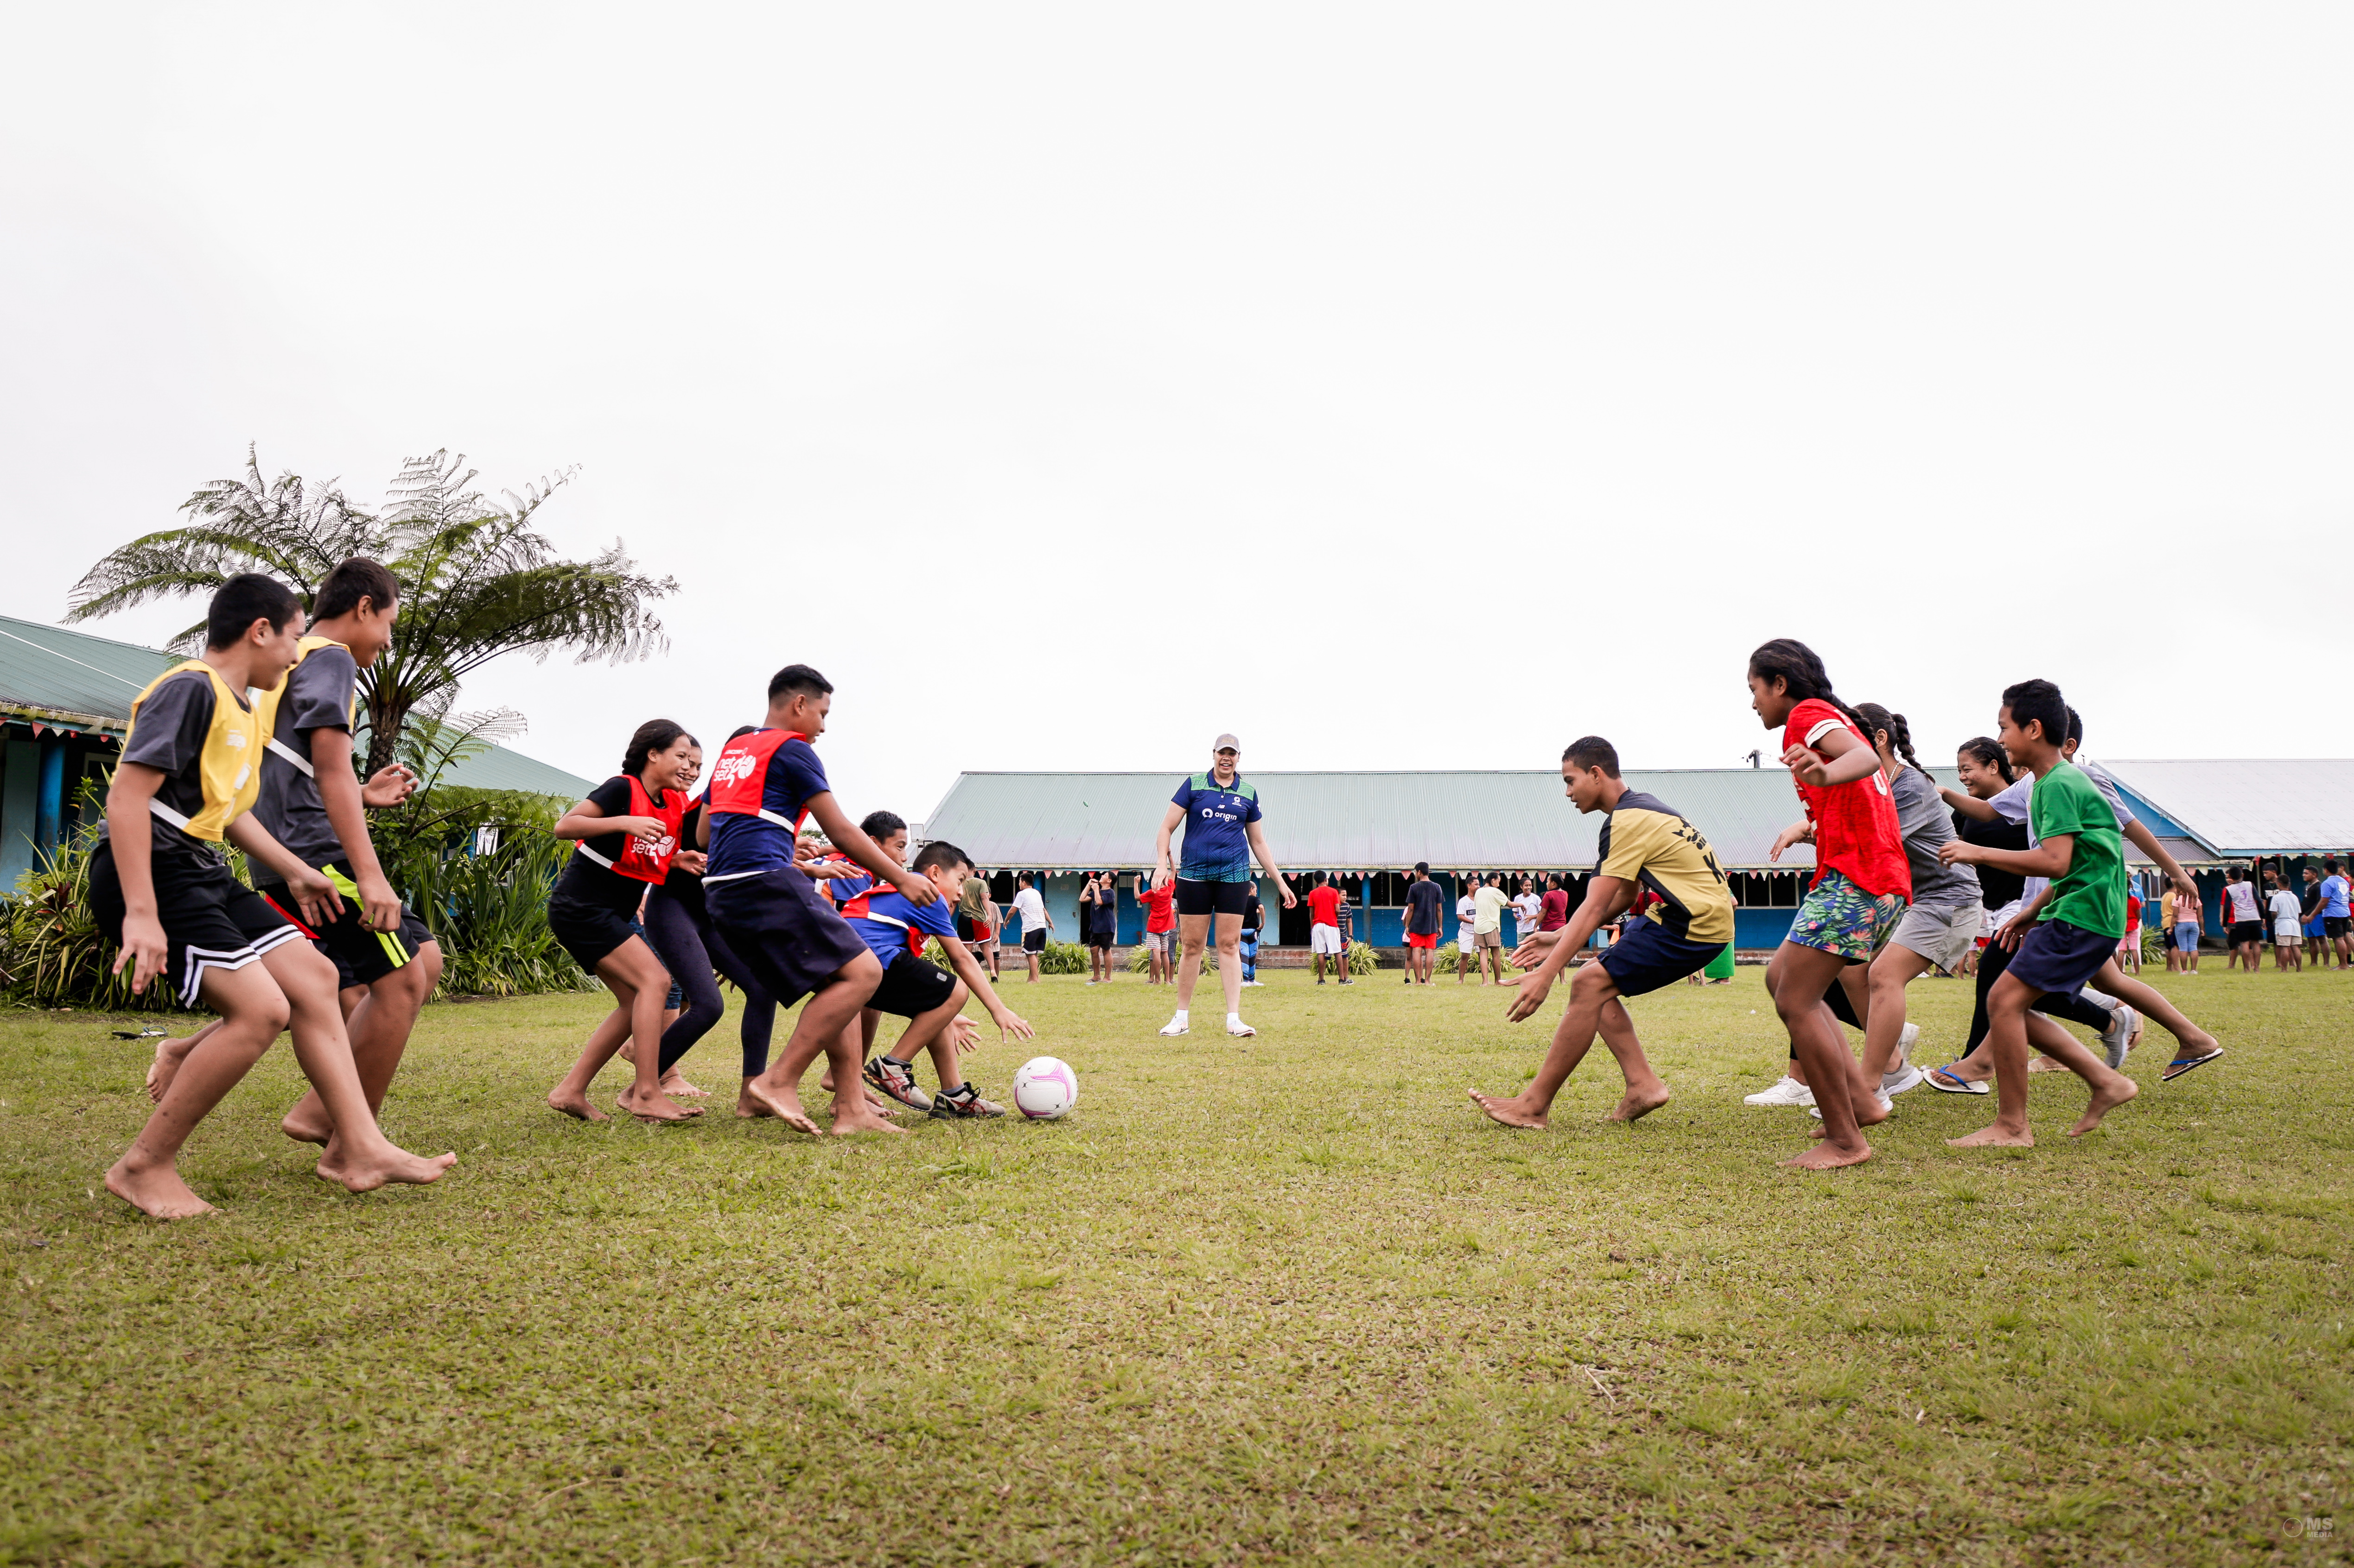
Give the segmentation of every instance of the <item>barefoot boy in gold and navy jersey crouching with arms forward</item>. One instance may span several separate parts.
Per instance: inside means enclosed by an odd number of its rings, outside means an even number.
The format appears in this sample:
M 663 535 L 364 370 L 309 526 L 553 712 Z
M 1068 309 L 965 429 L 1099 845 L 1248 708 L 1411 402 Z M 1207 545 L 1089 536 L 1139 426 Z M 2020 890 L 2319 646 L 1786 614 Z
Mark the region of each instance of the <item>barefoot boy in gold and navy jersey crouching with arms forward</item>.
M 1507 1018 L 1521 1023 L 1544 1006 L 1554 978 L 1603 922 L 1634 903 L 1636 889 L 1657 893 L 1660 903 L 1570 983 L 1570 1006 L 1530 1086 L 1516 1095 L 1471 1091 L 1471 1103 L 1504 1126 L 1544 1126 L 1554 1095 L 1594 1046 L 1596 1032 L 1627 1074 L 1627 1093 L 1610 1121 L 1634 1121 L 1667 1105 L 1667 1084 L 1643 1058 L 1643 1041 L 1620 997 L 1674 985 L 1707 969 L 1733 940 L 1733 893 L 1709 842 L 1657 797 L 1627 788 L 1617 771 L 1617 748 L 1601 736 L 1575 741 L 1561 755 L 1561 783 L 1580 811 L 1608 811 L 1610 820 L 1603 823 L 1587 900 L 1570 924 L 1537 931 L 1514 952 L 1514 964 L 1532 973 L 1521 978 L 1521 994 Z

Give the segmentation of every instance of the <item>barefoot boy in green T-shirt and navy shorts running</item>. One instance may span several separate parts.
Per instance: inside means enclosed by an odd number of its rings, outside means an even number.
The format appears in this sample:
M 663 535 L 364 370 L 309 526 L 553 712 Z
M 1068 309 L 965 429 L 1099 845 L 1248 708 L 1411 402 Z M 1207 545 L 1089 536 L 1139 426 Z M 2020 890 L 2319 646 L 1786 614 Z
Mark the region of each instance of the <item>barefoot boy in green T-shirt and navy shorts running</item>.
M 2123 835 L 2116 830 L 2116 811 L 2093 780 L 2060 755 L 2067 717 L 2060 686 L 2046 679 L 2020 682 L 2003 691 L 1996 738 L 2013 764 L 2034 773 L 2029 825 L 2036 846 L 2006 851 L 1954 839 L 1940 851 L 1947 865 L 1991 865 L 2050 879 L 2046 898 L 2039 900 L 2041 912 L 2024 910 L 1996 936 L 2017 952 L 1987 994 L 1994 1126 L 1947 1138 L 1959 1150 L 2034 1147 L 2036 1138 L 2027 1128 L 2027 1009 L 2046 992 L 2069 994 L 2088 985 L 2116 961 L 2116 943 L 2126 933 Z M 2140 1093 L 2133 1079 L 2102 1063 L 2072 1034 L 2050 1039 L 2043 1053 L 2093 1091 L 2093 1103 L 2069 1128 L 2069 1138 L 2090 1133 L 2107 1112 Z

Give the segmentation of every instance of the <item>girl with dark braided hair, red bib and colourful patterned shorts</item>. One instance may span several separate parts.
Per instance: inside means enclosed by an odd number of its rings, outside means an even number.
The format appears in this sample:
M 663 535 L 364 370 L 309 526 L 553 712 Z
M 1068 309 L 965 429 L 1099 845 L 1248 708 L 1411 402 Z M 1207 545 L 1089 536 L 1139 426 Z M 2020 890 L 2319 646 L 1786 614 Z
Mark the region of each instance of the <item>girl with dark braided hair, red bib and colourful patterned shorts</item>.
M 1766 966 L 1766 990 L 1796 1056 L 1791 1077 L 1806 1074 L 1822 1110 L 1822 1140 L 1787 1164 L 1803 1171 L 1855 1166 L 1871 1159 L 1855 1117 L 1860 1067 L 1824 994 L 1888 940 L 1911 900 L 1911 870 L 1881 755 L 1855 710 L 1834 696 L 1822 658 L 1789 637 L 1758 646 L 1749 656 L 1749 705 L 1766 729 L 1782 731 L 1782 762 L 1806 811 L 1782 830 L 1768 858 L 1780 860 L 1794 844 L 1815 846 L 1815 884 Z

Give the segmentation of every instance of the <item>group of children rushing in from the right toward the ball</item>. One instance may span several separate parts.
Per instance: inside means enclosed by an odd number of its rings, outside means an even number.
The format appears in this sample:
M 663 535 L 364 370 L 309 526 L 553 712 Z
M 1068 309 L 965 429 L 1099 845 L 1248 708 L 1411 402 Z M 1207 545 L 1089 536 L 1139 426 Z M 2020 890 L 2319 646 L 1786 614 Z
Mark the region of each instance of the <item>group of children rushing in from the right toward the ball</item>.
M 1770 858 L 1794 844 L 1815 849 L 1813 886 L 1766 969 L 1791 1067 L 1749 1095 L 1751 1105 L 1808 1105 L 1822 1121 L 1815 1145 L 1784 1164 L 1822 1171 L 1869 1159 L 1864 1128 L 1886 1121 L 1893 1098 L 1921 1084 L 1984 1095 L 1991 1079 L 1994 1124 L 1949 1143 L 2032 1145 L 2029 1048 L 2088 1084 L 2090 1105 L 2069 1128 L 2088 1133 L 2137 1093 L 2119 1067 L 2144 1016 L 2175 1037 L 2168 1081 L 2222 1056 L 2213 1034 L 2119 971 L 2126 842 L 2180 896 L 2196 898 L 2196 886 L 2135 820 L 2107 771 L 2079 757 L 2083 719 L 2055 684 L 2008 686 L 1996 736 L 1961 745 L 1963 788 L 1940 790 L 1914 757 L 1904 715 L 1838 701 L 1806 644 L 1758 646 L 1747 677 L 1758 719 L 1782 731 L 1780 757 L 1801 804 Z M 1620 999 L 1702 971 L 1733 940 L 1733 898 L 1707 839 L 1674 809 L 1629 790 L 1608 741 L 1572 743 L 1561 778 L 1580 811 L 1608 816 L 1598 870 L 1568 926 L 1521 943 L 1514 957 L 1535 961 L 1535 971 L 1521 980 L 1509 1016 L 1530 1018 L 1587 938 L 1638 896 L 1655 898 L 1655 907 L 1580 971 L 1528 1088 L 1471 1093 L 1507 1126 L 1544 1126 L 1596 1034 L 1627 1079 L 1612 1119 L 1667 1105 L 1667 1084 L 1643 1058 Z M 1959 973 L 1987 931 L 1968 1048 L 1921 1072 L 1907 1060 L 1919 1030 L 1904 1020 L 1904 987 L 1930 969 Z M 2062 1018 L 2095 1030 L 2100 1051 L 2060 1027 Z M 1862 1032 L 1860 1053 L 1850 1053 L 1841 1025 Z

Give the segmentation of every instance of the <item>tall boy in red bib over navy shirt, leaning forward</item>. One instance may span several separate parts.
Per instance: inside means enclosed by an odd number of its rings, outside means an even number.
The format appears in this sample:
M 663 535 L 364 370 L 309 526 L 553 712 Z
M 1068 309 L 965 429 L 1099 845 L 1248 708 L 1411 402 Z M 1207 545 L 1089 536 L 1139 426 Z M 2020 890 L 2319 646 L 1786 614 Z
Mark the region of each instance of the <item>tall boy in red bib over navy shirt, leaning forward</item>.
M 859 1009 L 883 983 L 883 964 L 859 940 L 859 933 L 833 912 L 833 905 L 793 867 L 800 823 L 814 818 L 826 839 L 876 877 L 897 889 L 909 905 L 939 900 L 930 879 L 906 870 L 857 823 L 843 816 L 817 759 L 814 741 L 826 733 L 833 710 L 833 682 L 810 665 L 786 665 L 767 682 L 767 726 L 730 741 L 711 766 L 711 860 L 704 867 L 704 903 L 711 924 L 751 966 L 779 1006 L 803 997 L 793 1039 L 784 1056 L 760 1077 L 744 1084 L 744 1095 L 772 1117 L 817 1135 L 817 1124 L 800 1110 L 800 1072 L 826 1051 L 833 1063 L 833 1131 L 897 1133 L 859 1093 Z M 953 929 L 951 929 L 953 931 Z

